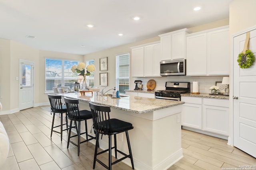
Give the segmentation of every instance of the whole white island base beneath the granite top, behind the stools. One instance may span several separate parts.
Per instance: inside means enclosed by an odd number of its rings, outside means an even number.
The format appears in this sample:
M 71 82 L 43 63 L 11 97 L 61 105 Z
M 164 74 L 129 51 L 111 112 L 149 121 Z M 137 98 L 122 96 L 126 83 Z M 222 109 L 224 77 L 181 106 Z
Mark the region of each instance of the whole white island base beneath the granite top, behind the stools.
M 90 110 L 87 102 L 80 102 L 79 107 L 80 109 Z M 182 107 L 174 106 L 169 109 L 165 108 L 163 110 L 160 109 L 143 114 L 111 108 L 111 118 L 130 122 L 134 126 L 134 129 L 128 131 L 128 133 L 132 147 L 134 166 L 137 170 L 164 169 L 170 167 L 177 159 L 182 157 L 181 125 L 177 123 L 177 115 L 180 116 L 181 112 L 180 108 Z M 168 110 L 169 113 L 166 114 Z M 174 110 L 175 112 L 173 113 Z M 148 119 L 149 117 L 154 117 L 154 114 L 162 114 L 164 117 L 156 120 Z M 88 129 L 90 129 L 92 121 L 89 120 L 87 122 Z M 84 124 L 81 125 L 81 128 L 84 131 Z M 94 135 L 93 131 L 92 135 Z M 128 153 L 125 133 L 122 133 L 122 141 L 120 141 L 119 135 L 120 134 L 117 135 L 118 149 Z M 92 143 L 95 144 L 95 140 L 92 140 Z M 102 140 L 100 140 L 100 148 L 108 148 L 107 136 L 103 135 Z M 118 155 L 118 157 L 120 158 L 120 155 Z M 123 162 L 131 166 L 130 159 L 125 159 Z

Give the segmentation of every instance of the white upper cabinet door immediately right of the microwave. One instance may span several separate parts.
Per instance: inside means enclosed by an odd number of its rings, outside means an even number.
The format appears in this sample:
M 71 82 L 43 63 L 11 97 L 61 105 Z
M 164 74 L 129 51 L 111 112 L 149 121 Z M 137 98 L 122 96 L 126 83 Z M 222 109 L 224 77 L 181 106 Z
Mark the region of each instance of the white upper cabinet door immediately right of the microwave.
M 206 75 L 206 33 L 187 37 L 186 75 Z

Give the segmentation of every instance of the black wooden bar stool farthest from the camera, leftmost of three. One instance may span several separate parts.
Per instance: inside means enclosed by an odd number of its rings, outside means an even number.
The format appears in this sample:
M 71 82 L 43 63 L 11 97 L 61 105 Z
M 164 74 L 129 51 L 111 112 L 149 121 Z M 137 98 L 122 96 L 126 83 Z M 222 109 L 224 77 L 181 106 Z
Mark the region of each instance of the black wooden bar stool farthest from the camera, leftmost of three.
M 62 131 L 68 130 L 67 107 L 66 107 L 66 105 L 64 105 L 61 102 L 60 95 L 48 94 L 48 98 L 49 98 L 50 105 L 51 105 L 51 114 L 53 113 L 51 137 L 52 137 L 52 132 L 60 133 L 60 141 L 62 141 Z M 54 126 L 55 113 L 60 113 L 60 125 L 57 125 L 57 126 Z M 66 116 L 65 116 L 66 129 L 63 129 L 63 123 L 62 123 L 64 113 L 66 114 Z M 60 132 L 53 130 L 53 128 L 56 128 L 56 127 L 60 127 Z

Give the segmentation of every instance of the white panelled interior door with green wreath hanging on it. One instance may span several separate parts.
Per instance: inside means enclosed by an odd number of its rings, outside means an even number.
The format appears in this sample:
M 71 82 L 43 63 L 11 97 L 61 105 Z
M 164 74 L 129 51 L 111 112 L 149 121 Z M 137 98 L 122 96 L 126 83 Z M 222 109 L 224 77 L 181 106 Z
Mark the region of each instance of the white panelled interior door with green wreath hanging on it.
M 256 63 L 250 68 L 238 66 L 246 33 L 233 38 L 233 127 L 234 146 L 256 157 Z M 256 28 L 250 31 L 250 50 L 256 55 Z

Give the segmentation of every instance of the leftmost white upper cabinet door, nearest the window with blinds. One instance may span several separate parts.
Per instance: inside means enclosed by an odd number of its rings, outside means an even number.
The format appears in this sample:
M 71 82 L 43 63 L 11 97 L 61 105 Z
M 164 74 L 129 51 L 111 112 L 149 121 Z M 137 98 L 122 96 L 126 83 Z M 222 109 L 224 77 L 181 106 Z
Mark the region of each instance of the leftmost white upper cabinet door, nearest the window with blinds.
M 144 47 L 132 49 L 132 77 L 144 76 Z

